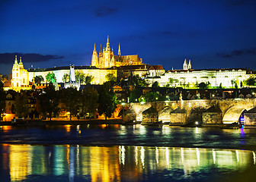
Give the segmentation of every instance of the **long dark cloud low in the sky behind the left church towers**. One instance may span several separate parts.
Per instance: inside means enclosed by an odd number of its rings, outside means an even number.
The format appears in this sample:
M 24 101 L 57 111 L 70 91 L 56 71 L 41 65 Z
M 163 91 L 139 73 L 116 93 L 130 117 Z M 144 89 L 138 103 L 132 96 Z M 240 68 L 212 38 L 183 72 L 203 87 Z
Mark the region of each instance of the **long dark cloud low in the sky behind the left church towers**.
M 22 62 L 42 62 L 42 61 L 53 61 L 56 59 L 62 59 L 63 56 L 59 55 L 40 55 L 37 53 L 23 54 L 23 53 L 0 53 L 0 64 L 10 64 L 14 62 L 15 55 L 22 58 Z

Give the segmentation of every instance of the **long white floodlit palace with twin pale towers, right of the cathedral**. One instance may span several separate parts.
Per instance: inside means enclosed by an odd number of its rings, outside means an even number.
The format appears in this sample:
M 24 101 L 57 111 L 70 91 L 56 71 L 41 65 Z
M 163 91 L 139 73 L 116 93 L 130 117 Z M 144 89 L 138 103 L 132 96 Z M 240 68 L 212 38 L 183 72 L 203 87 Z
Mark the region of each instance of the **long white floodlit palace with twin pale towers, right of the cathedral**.
M 187 64 L 185 59 L 183 70 L 167 71 L 160 77 L 148 77 L 147 82 L 152 85 L 157 81 L 160 86 L 166 86 L 169 78 L 174 81 L 170 86 L 194 87 L 199 83 L 210 83 L 210 86 L 240 87 L 240 83 L 252 76 L 252 71 L 245 68 L 221 68 L 221 69 L 192 69 L 191 61 Z M 233 81 L 232 81 L 233 80 Z

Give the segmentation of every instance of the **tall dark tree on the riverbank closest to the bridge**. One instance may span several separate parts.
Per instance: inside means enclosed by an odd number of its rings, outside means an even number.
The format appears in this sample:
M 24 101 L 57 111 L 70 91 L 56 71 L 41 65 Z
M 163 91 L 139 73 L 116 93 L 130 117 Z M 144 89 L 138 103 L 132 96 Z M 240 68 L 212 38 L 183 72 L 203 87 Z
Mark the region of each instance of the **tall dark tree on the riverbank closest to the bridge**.
M 117 97 L 110 82 L 105 82 L 99 90 L 98 112 L 105 115 L 105 120 L 110 118 L 117 108 Z

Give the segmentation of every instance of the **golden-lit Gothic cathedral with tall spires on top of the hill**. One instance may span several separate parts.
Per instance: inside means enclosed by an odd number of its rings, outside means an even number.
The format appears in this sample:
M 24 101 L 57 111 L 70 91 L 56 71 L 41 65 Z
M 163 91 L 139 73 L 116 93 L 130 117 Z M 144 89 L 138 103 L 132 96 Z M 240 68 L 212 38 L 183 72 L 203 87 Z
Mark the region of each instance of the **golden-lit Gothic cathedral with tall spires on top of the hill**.
M 106 48 L 100 49 L 97 53 L 96 46 L 94 44 L 94 50 L 91 56 L 91 66 L 106 68 L 106 67 L 120 67 L 126 65 L 139 65 L 142 64 L 142 58 L 138 55 L 121 55 L 120 45 L 118 49 L 118 55 L 114 55 L 113 48 L 110 49 L 109 37 L 107 36 Z

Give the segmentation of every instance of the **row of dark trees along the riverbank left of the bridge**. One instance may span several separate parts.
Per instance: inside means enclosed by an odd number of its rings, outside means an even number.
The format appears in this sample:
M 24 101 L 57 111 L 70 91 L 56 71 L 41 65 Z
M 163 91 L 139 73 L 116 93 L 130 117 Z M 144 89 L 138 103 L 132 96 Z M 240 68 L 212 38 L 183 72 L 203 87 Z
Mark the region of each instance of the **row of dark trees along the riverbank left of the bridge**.
M 31 89 L 16 93 L 3 90 L 0 83 L 0 111 L 15 114 L 16 118 L 49 119 L 69 116 L 77 118 L 95 118 L 96 113 L 110 118 L 117 108 L 117 98 L 110 82 L 104 83 L 99 89 L 93 86 L 77 90 L 74 87 L 56 90 L 50 83 L 45 89 Z M 7 105 L 5 106 L 5 102 Z

